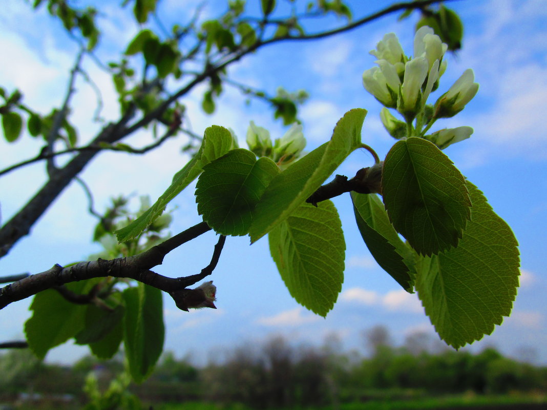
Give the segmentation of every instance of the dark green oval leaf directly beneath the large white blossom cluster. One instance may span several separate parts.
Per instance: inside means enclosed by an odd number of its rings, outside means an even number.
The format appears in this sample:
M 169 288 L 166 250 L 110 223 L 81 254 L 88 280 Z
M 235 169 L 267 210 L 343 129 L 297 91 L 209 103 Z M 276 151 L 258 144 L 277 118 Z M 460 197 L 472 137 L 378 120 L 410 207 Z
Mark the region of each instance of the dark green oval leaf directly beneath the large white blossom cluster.
M 421 138 L 401 140 L 389 150 L 382 195 L 395 230 L 424 255 L 455 247 L 470 216 L 463 175 Z

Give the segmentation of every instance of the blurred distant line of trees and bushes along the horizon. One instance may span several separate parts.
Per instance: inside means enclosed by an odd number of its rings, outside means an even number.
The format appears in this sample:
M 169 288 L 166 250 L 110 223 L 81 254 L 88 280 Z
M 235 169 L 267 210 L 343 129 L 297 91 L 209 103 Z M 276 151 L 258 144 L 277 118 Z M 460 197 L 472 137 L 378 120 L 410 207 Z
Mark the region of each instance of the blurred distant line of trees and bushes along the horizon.
M 547 389 L 547 367 L 510 359 L 493 347 L 476 354 L 456 352 L 426 333 L 415 333 L 395 346 L 381 326 L 364 331 L 363 336 L 367 355 L 342 351 L 335 337 L 317 347 L 295 345 L 281 336 L 226 349 L 200 366 L 190 356 L 177 359 L 166 352 L 152 376 L 139 385 L 120 376 L 122 354 L 109 361 L 85 356 L 66 367 L 40 362 L 27 350 L 13 350 L 0 356 L 0 402 L 33 393 L 43 400 L 69 395 L 73 405 L 88 403 L 88 409 L 185 401 L 241 403 L 255 409 L 336 408 L 373 399 Z M 132 406 L 123 404 L 127 397 Z

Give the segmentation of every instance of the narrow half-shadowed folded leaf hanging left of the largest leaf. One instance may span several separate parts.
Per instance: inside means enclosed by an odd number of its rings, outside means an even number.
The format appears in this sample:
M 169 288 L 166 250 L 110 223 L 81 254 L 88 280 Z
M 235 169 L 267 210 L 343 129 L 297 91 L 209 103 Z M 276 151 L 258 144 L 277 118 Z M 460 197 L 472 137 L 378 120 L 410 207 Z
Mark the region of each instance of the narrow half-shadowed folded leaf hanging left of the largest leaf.
M 375 194 L 357 192 L 351 198 L 357 227 L 370 254 L 404 290 L 413 293 L 414 256 L 389 222 L 382 201 Z

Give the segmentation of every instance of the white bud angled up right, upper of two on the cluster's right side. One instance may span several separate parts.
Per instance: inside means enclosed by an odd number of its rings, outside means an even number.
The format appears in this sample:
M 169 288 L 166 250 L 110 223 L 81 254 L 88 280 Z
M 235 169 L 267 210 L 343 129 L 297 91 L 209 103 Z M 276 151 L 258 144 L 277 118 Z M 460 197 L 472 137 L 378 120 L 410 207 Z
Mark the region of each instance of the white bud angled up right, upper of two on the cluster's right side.
M 450 89 L 439 97 L 435 103 L 435 118 L 448 118 L 456 115 L 465 107 L 479 90 L 479 84 L 474 83 L 473 70 L 468 68 Z

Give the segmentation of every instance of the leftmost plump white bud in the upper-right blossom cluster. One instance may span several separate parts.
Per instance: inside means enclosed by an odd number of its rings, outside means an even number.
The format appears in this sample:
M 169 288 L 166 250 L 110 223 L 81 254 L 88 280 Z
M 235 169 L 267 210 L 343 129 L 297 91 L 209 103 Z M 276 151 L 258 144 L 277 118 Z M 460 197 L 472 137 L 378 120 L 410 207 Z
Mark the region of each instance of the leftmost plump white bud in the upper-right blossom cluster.
M 373 67 L 363 73 L 363 86 L 384 106 L 397 106 L 401 84 L 397 69 L 387 60 L 376 61 L 380 67 Z

